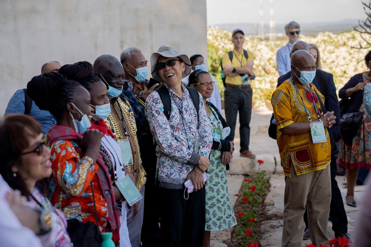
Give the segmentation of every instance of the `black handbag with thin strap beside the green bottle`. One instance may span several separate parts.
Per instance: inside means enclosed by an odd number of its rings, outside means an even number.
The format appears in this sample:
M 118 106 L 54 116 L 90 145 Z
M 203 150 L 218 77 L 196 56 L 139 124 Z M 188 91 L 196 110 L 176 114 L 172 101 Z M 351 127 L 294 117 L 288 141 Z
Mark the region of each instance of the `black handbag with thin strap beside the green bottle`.
M 94 213 L 95 213 L 95 223 L 89 221 L 86 223 L 81 223 L 77 219 L 71 219 L 67 221 L 67 232 L 73 243 L 73 247 L 101 247 L 102 238 L 101 231 L 98 227 L 98 216 L 95 207 L 95 198 L 93 192 L 93 184 L 90 183 L 92 187 L 93 202 L 94 202 Z

